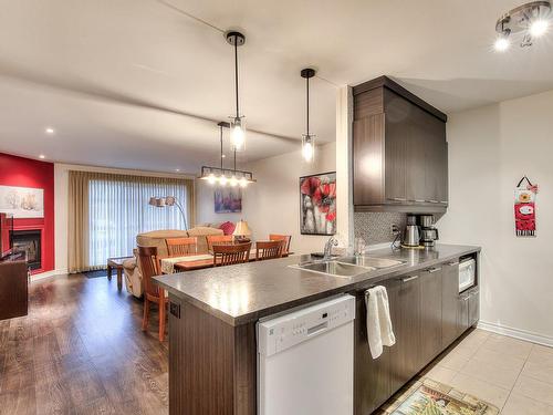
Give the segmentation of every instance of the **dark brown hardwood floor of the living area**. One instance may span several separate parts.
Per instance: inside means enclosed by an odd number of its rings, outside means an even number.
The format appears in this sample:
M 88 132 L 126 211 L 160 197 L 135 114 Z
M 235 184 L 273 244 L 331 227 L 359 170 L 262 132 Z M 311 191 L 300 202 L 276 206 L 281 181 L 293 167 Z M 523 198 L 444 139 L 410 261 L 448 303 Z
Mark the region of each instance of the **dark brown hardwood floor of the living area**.
M 29 315 L 0 321 L 0 414 L 167 414 L 168 344 L 117 281 L 32 283 Z M 157 313 L 157 310 L 153 310 Z

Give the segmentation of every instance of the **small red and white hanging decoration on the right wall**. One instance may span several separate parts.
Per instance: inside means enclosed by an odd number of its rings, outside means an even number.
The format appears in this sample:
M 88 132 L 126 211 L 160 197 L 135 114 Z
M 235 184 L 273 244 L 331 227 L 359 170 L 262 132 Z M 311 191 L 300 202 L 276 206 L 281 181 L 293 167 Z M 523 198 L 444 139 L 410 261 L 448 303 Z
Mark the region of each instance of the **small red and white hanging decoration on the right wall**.
M 514 189 L 514 228 L 518 237 L 535 237 L 535 195 L 538 185 L 522 177 Z

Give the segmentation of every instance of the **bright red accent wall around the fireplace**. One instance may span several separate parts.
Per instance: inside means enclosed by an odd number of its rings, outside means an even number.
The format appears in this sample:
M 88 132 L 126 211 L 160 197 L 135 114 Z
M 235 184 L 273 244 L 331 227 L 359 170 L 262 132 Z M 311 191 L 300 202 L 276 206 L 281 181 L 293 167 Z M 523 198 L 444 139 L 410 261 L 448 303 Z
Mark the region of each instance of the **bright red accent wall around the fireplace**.
M 44 218 L 14 219 L 13 228 L 42 229 L 42 271 L 54 269 L 54 164 L 0 153 L 0 185 L 44 189 Z

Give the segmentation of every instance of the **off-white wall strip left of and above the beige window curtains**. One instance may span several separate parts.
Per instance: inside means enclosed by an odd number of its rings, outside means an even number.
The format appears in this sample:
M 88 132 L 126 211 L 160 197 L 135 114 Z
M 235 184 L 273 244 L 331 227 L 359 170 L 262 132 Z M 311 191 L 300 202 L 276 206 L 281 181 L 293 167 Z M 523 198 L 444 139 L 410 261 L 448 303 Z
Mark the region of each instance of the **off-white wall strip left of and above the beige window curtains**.
M 82 166 L 72 164 L 54 164 L 54 218 L 55 218 L 55 271 L 56 273 L 67 272 L 67 237 L 69 237 L 69 172 L 102 172 L 114 174 L 127 174 L 148 177 L 190 177 L 187 175 L 171 175 L 154 172 L 127 170 L 121 168 L 104 168 L 94 166 Z

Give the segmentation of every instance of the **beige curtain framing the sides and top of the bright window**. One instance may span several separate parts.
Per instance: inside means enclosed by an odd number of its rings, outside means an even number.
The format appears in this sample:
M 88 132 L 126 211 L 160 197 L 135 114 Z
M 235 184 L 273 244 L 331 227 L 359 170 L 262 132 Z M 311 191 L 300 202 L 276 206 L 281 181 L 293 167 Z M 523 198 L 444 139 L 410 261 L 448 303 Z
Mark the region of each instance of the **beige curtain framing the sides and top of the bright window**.
M 91 180 L 112 180 L 142 184 L 177 184 L 186 188 L 188 227 L 196 224 L 195 180 L 188 178 L 131 176 L 96 172 L 69 172 L 69 270 L 81 272 L 91 269 L 88 261 L 88 195 Z M 181 200 L 182 201 L 182 200 Z

